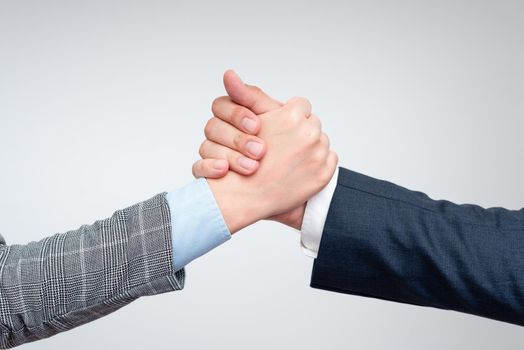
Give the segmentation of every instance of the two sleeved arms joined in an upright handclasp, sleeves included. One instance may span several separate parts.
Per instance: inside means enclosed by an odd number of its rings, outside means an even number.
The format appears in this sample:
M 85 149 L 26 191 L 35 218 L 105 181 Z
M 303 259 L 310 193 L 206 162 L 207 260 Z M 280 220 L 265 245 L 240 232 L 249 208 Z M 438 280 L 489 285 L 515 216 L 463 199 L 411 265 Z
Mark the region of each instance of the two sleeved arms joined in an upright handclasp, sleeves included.
M 1 349 L 180 290 L 188 263 L 264 219 L 302 231 L 314 288 L 524 325 L 524 209 L 435 201 L 337 169 L 307 100 L 283 104 L 233 71 L 224 85 L 197 180 L 40 242 L 0 236 Z

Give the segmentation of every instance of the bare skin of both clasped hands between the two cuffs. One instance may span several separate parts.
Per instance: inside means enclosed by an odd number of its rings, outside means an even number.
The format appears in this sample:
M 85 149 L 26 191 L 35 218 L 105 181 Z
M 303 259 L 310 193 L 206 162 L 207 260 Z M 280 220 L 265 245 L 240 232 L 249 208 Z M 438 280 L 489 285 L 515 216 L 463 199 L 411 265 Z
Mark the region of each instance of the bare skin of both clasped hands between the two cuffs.
M 233 71 L 224 74 L 224 85 L 228 96 L 213 102 L 193 175 L 208 178 L 232 233 L 262 219 L 300 229 L 305 203 L 338 162 L 319 119 L 309 101 L 282 104 Z

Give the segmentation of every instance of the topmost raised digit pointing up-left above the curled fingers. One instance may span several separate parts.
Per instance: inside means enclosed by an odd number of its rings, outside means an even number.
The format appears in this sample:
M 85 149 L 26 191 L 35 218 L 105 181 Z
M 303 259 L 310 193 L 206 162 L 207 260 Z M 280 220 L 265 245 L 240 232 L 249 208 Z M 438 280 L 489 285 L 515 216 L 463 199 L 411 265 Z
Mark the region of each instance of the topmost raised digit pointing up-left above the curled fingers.
M 262 114 L 282 106 L 282 103 L 268 96 L 259 87 L 244 84 L 234 70 L 224 73 L 224 86 L 231 100 L 249 108 L 255 114 Z

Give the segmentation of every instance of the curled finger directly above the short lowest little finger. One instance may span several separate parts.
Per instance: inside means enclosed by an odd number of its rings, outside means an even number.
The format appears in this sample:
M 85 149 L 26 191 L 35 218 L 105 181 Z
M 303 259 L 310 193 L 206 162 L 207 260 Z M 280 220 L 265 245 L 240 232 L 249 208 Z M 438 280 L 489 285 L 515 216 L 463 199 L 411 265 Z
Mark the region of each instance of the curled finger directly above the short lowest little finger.
M 260 166 L 258 161 L 247 158 L 237 151 L 209 140 L 205 140 L 202 143 L 199 153 L 204 159 L 226 159 L 229 163 L 229 169 L 242 175 L 251 175 Z

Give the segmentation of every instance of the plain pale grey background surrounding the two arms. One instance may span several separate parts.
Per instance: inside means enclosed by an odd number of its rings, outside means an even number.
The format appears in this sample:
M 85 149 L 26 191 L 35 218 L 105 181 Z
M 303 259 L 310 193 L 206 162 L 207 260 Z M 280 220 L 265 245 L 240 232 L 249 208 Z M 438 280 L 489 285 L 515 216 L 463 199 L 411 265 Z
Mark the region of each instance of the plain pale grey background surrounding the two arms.
M 26 243 L 191 180 L 222 73 L 307 96 L 341 165 L 520 209 L 522 1 L 0 1 L 0 231 Z M 308 287 L 263 222 L 26 349 L 517 349 L 522 328 Z

